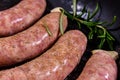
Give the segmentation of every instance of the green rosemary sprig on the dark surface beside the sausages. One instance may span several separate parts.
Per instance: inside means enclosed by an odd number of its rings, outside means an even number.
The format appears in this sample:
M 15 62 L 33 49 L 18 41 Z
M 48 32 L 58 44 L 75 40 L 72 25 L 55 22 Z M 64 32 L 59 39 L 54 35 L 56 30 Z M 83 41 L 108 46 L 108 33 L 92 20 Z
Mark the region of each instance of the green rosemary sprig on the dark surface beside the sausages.
M 92 19 L 99 12 L 100 7 L 99 7 L 98 3 L 96 5 L 96 8 L 93 11 L 93 13 L 90 14 L 90 12 L 87 11 L 86 6 L 84 6 L 82 13 L 79 15 L 76 14 L 76 7 L 77 7 L 76 0 L 73 0 L 73 4 L 74 4 L 73 14 L 67 12 L 64 9 L 61 9 L 61 11 L 64 12 L 64 14 L 67 15 L 67 17 L 70 20 L 76 21 L 79 28 L 83 27 L 81 25 L 84 25 L 84 27 L 86 27 L 89 30 L 87 37 L 90 41 L 94 40 L 94 39 L 98 40 L 97 48 L 102 49 L 104 47 L 104 45 L 107 44 L 109 49 L 113 50 L 113 43 L 115 41 L 115 38 L 109 33 L 107 28 L 104 27 L 103 25 L 105 25 L 105 24 L 106 24 L 106 26 L 113 25 L 116 22 L 116 16 L 114 16 L 111 24 L 107 24 L 107 22 L 92 21 Z M 82 18 L 82 15 L 84 15 L 85 13 L 88 13 L 87 19 Z

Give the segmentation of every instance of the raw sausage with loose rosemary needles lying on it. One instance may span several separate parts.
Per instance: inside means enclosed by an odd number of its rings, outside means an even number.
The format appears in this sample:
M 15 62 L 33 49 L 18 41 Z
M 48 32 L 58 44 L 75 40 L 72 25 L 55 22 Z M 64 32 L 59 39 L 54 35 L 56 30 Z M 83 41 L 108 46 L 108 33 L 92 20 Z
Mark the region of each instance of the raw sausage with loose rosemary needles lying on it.
M 0 38 L 0 66 L 8 66 L 41 54 L 57 39 L 60 12 L 51 12 L 35 25 L 16 35 Z M 52 33 L 50 36 L 45 28 Z M 64 30 L 67 17 L 63 16 Z

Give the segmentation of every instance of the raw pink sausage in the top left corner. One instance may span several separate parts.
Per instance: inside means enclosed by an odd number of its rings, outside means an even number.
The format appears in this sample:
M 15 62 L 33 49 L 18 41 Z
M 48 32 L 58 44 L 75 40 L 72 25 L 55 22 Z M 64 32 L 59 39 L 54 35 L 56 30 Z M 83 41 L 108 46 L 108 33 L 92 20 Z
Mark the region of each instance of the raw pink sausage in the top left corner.
M 8 36 L 29 27 L 41 17 L 46 0 L 21 0 L 16 6 L 0 11 L 0 36 Z

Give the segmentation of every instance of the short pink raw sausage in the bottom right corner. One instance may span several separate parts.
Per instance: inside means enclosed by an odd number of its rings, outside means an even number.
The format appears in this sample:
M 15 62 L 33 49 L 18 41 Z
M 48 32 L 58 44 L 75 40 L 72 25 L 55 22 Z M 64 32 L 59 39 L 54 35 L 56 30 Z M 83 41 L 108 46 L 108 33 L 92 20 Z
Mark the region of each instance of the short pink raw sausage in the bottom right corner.
M 117 65 L 109 53 L 104 50 L 94 51 L 77 80 L 116 80 Z

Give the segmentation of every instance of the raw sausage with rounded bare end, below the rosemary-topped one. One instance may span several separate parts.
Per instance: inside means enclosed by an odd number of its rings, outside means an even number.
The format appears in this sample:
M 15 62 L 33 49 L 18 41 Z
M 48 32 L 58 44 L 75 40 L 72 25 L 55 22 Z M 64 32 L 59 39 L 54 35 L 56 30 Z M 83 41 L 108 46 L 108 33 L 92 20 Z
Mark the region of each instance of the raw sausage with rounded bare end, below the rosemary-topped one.
M 0 80 L 64 80 L 79 63 L 86 43 L 87 39 L 82 32 L 68 31 L 51 49 L 36 59 L 0 71 Z

